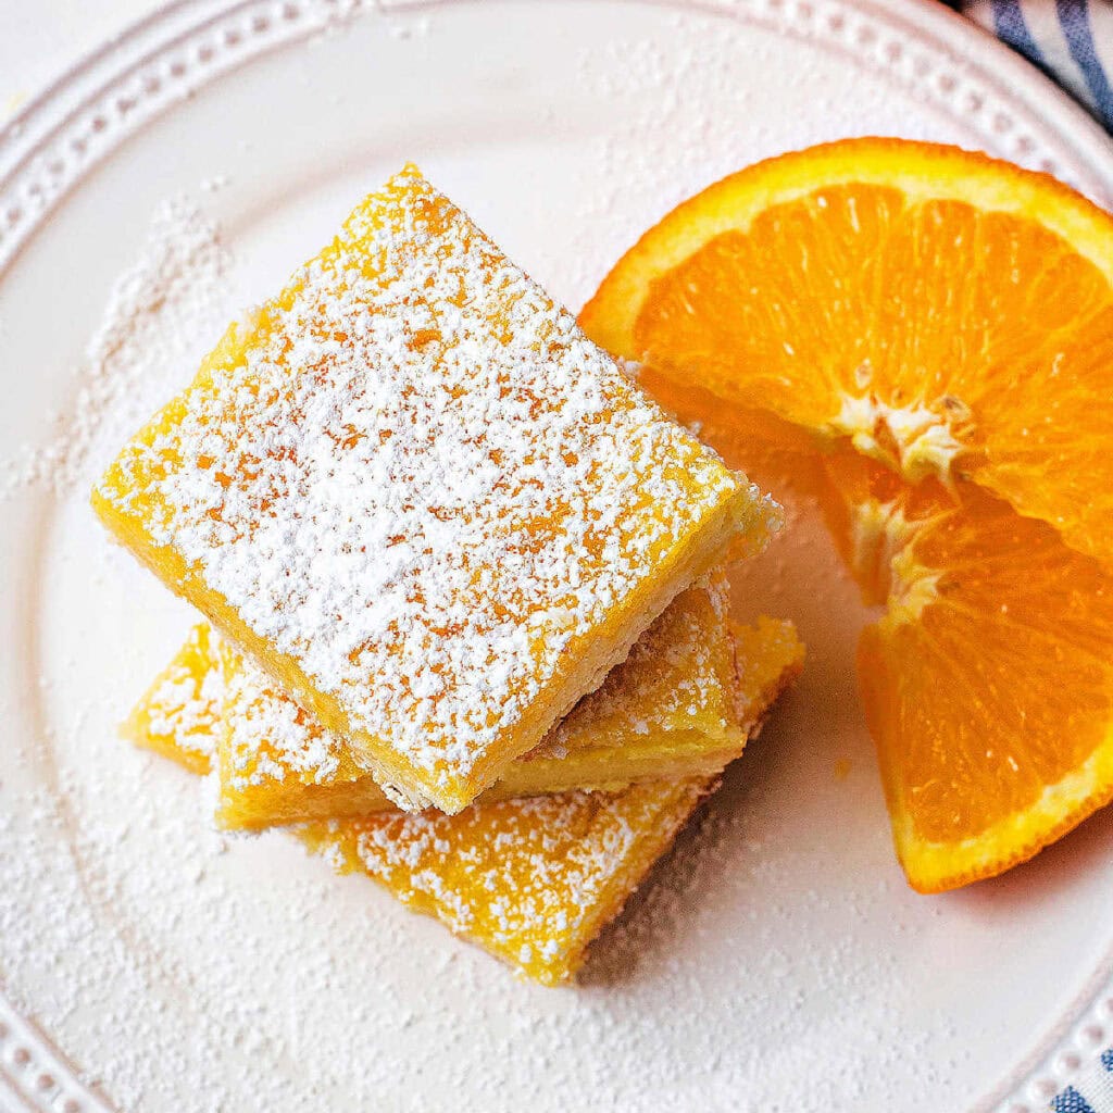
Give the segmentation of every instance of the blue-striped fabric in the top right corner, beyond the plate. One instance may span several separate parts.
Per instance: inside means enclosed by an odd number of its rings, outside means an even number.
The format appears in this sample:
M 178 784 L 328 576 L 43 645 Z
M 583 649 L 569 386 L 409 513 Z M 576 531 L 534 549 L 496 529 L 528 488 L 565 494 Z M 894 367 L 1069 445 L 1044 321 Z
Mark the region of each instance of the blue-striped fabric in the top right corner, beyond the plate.
M 1113 131 L 1113 0 L 959 0 Z

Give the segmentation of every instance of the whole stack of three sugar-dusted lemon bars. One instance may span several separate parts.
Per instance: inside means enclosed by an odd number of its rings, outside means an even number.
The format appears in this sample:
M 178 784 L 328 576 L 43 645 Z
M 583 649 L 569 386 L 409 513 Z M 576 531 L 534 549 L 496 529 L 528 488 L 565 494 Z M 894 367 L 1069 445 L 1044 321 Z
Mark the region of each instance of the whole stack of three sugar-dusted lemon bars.
M 802 658 L 727 617 L 776 505 L 413 168 L 92 502 L 205 620 L 126 732 L 548 984 Z

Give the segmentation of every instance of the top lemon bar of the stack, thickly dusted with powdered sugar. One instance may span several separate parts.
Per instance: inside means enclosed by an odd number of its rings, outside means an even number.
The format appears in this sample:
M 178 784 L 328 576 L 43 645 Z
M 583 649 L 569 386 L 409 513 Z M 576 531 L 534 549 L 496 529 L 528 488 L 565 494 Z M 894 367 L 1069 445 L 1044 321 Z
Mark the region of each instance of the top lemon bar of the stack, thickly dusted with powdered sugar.
M 447 812 L 777 524 L 413 168 L 92 504 L 392 799 Z

